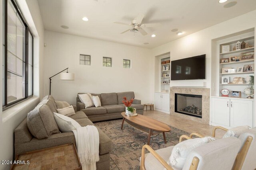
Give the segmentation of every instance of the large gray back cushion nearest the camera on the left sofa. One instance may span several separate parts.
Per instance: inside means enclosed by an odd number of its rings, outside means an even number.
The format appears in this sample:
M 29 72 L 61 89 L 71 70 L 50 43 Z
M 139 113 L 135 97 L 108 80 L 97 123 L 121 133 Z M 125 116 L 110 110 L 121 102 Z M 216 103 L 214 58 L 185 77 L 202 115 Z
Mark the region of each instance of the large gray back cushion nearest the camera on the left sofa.
M 40 105 L 28 113 L 28 129 L 37 139 L 48 138 L 50 135 L 60 133 L 58 125 L 49 106 Z

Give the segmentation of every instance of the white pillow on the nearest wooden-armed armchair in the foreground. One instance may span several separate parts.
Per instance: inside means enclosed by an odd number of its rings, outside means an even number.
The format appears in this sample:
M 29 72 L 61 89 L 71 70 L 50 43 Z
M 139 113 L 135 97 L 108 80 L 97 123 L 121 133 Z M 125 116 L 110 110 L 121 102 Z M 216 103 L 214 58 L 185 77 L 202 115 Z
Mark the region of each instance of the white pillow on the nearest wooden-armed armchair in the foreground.
M 167 163 L 174 169 L 182 170 L 188 154 L 196 147 L 204 145 L 210 141 L 214 141 L 214 139 L 210 137 L 204 137 L 188 139 L 186 141 L 178 143 L 173 147 L 172 154 Z

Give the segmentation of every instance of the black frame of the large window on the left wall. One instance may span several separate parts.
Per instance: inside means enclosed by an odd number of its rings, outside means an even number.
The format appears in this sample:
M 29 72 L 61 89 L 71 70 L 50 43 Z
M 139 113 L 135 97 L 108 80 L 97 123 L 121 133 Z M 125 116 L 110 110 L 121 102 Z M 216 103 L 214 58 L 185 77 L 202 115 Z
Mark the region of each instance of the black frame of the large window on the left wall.
M 4 58 L 3 58 L 3 63 L 4 63 L 4 78 L 3 78 L 3 88 L 2 91 L 3 91 L 3 97 L 4 97 L 4 101 L 2 102 L 2 110 L 6 110 L 12 106 L 15 106 L 16 104 L 24 101 L 24 100 L 27 100 L 28 98 L 31 98 L 34 94 L 34 87 L 33 87 L 33 84 L 34 84 L 34 36 L 32 34 L 32 32 L 30 31 L 28 25 L 26 24 L 26 21 L 24 20 L 24 17 L 23 15 L 21 14 L 20 12 L 20 9 L 18 8 L 18 4 L 16 3 L 15 0 L 9 0 L 10 3 L 14 6 L 14 9 L 16 10 L 16 13 L 18 14 L 21 22 L 24 24 L 24 27 L 25 27 L 25 97 L 24 98 L 21 98 L 19 100 L 15 100 L 13 102 L 10 102 L 9 104 L 7 103 L 7 97 L 8 97 L 8 79 L 7 79 L 7 74 L 8 74 L 8 39 L 7 39 L 7 35 L 8 35 L 8 0 L 4 0 Z M 29 46 L 29 43 L 28 43 L 28 35 L 29 33 L 32 35 L 32 94 L 30 96 L 28 96 L 28 46 Z

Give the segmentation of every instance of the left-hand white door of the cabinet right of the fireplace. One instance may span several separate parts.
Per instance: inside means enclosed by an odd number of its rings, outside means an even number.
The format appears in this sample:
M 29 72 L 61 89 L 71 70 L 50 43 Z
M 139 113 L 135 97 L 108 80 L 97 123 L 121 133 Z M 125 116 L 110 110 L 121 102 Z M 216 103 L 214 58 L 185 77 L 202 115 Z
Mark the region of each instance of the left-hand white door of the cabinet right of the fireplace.
M 212 98 L 212 122 L 230 126 L 230 100 Z

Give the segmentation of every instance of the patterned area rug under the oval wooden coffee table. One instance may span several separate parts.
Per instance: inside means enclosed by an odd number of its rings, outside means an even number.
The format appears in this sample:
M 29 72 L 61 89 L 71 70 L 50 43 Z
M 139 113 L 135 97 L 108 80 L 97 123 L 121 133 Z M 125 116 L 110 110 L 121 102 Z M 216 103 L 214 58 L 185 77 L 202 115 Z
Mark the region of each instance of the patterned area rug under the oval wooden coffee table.
M 121 130 L 122 119 L 100 121 L 94 123 L 100 127 L 110 139 L 112 139 L 113 150 L 110 153 L 111 170 L 139 170 L 140 156 L 142 146 L 147 144 L 148 134 L 144 133 L 128 123 L 124 123 Z M 170 147 L 179 143 L 181 135 L 189 135 L 189 133 L 171 127 L 171 131 L 166 133 L 166 141 L 164 143 L 163 134 L 152 135 L 150 139 L 150 147 L 154 150 Z

